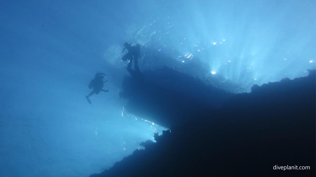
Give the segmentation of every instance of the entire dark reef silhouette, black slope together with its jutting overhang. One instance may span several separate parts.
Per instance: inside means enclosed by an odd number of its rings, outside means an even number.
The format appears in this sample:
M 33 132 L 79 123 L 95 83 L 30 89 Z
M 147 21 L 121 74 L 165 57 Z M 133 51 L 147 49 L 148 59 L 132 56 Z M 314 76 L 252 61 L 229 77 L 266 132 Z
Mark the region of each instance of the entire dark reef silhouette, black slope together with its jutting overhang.
M 134 114 L 158 114 L 157 123 L 171 125 L 171 131 L 156 133 L 155 143 L 142 143 L 145 150 L 90 177 L 315 176 L 315 70 L 243 94 L 164 70 L 148 71 L 143 81 L 125 79 L 124 85 Z M 275 165 L 310 169 L 274 170 Z

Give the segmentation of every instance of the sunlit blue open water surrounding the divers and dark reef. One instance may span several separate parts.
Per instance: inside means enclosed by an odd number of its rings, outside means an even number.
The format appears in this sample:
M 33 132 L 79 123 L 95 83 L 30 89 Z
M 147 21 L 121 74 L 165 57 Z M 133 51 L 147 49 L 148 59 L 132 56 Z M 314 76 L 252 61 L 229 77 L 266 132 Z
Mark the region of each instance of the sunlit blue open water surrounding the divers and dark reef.
M 315 1 L 6 1 L 0 6 L 1 176 L 88 176 L 166 129 L 124 109 L 123 43 L 234 93 L 315 69 Z M 85 99 L 97 71 L 108 93 Z M 216 80 L 216 84 L 210 82 Z M 215 100 L 216 101 L 216 100 Z M 148 120 L 148 121 L 146 121 Z

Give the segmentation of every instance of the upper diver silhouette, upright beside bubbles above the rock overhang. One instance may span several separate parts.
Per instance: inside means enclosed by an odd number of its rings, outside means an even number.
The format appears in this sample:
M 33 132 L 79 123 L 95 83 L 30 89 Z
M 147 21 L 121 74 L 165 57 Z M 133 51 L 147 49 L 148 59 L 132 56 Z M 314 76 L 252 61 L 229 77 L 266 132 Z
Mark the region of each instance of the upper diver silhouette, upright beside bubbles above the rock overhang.
M 125 51 L 125 49 L 128 50 L 128 53 L 122 57 L 122 60 L 123 61 L 126 61 L 127 59 L 130 60 L 128 65 L 127 65 L 127 71 L 132 76 L 136 76 L 136 75 L 141 73 L 141 71 L 138 67 L 138 58 L 140 55 L 140 44 L 136 44 L 136 46 L 131 46 L 131 44 L 129 44 L 129 43 L 124 43 L 124 46 L 125 46 L 125 48 L 122 50 L 122 53 Z M 134 64 L 135 70 L 131 69 L 133 60 L 135 62 L 135 64 Z

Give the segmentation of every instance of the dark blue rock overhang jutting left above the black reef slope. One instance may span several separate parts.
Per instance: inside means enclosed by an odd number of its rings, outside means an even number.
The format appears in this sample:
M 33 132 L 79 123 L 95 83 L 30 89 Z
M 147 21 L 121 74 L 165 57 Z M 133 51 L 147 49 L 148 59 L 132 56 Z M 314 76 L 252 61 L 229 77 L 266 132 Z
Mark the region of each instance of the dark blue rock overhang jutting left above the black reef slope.
M 235 95 L 168 67 L 125 77 L 123 90 L 127 111 L 167 128 L 213 111 Z

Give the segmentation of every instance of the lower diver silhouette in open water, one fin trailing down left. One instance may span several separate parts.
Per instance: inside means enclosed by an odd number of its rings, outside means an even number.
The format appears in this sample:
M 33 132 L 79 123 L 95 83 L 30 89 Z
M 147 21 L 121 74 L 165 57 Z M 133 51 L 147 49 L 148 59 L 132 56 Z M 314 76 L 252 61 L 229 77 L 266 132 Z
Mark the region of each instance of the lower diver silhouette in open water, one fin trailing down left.
M 89 104 L 91 105 L 91 101 L 89 99 L 89 97 L 93 94 L 99 94 L 100 91 L 103 92 L 108 92 L 109 90 L 104 90 L 103 89 L 103 83 L 105 83 L 106 81 L 103 82 L 103 78 L 104 78 L 105 74 L 102 72 L 97 72 L 94 75 L 94 78 L 90 81 L 88 88 L 93 90 L 86 96 L 86 99 L 88 100 Z

